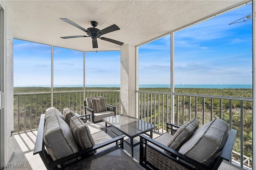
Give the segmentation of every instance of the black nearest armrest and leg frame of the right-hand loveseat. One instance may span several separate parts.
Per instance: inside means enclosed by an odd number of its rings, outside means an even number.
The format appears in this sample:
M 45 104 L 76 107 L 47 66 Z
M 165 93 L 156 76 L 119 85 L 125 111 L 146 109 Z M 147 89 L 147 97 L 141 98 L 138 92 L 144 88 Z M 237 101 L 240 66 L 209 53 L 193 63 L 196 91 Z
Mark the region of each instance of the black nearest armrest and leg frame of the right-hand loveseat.
M 157 148 L 155 148 L 154 146 L 150 146 L 148 145 L 148 143 L 154 144 L 155 146 L 158 146 L 159 148 L 166 150 L 167 152 L 170 152 L 169 154 L 166 154 L 165 152 L 162 152 L 160 150 L 158 150 Z M 143 149 L 143 147 L 145 147 L 145 149 Z M 166 156 L 167 158 L 169 158 L 170 160 L 177 162 L 178 164 L 188 168 L 188 169 L 192 169 L 190 166 L 184 164 L 183 162 L 180 162 L 179 160 L 177 160 L 177 157 L 182 159 L 185 162 L 188 162 L 189 164 L 192 164 L 193 166 L 196 166 L 198 169 L 208 169 L 207 166 L 205 166 L 204 164 L 201 164 L 200 162 L 193 160 L 183 154 L 180 154 L 179 152 L 177 152 L 176 150 L 169 148 L 168 146 L 165 146 L 157 141 L 155 141 L 154 139 L 145 136 L 144 134 L 140 134 L 140 164 L 143 165 L 143 161 L 146 161 L 146 149 L 147 147 L 150 147 L 154 150 L 156 150 L 156 152 L 161 153 L 162 155 Z M 145 158 L 144 158 L 145 157 Z

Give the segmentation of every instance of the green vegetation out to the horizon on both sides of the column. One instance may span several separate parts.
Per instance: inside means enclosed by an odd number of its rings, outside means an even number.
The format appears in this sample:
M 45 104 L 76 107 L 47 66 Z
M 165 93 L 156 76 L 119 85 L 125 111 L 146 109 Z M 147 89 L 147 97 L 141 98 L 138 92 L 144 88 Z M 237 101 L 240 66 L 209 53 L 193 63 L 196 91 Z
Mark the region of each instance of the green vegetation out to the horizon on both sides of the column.
M 116 105 L 117 113 L 120 113 L 120 93 L 106 92 L 106 90 L 120 90 L 120 88 L 86 87 L 85 97 L 104 95 L 108 104 Z M 15 93 L 47 92 L 44 94 L 16 95 Z M 58 91 L 78 91 L 58 93 Z M 84 112 L 84 93 L 82 87 L 58 87 L 54 88 L 53 106 L 62 111 L 70 107 L 75 112 Z M 100 91 L 100 92 L 93 92 Z M 156 130 L 166 128 L 166 122 L 171 121 L 170 114 L 170 88 L 140 88 L 138 93 L 139 118 L 157 125 Z M 48 87 L 14 87 L 14 131 L 21 132 L 38 127 L 40 115 L 51 106 L 51 94 Z M 155 92 L 167 92 L 158 94 Z M 204 94 L 215 96 L 248 97 L 252 98 L 252 89 L 196 89 L 175 88 L 176 93 Z M 230 107 L 231 105 L 231 107 Z M 242 109 L 242 114 L 241 114 Z M 183 114 L 184 113 L 184 114 Z M 231 115 L 230 115 L 231 113 Z M 238 130 L 233 150 L 241 152 L 241 128 L 243 128 L 244 155 L 252 158 L 252 102 L 237 99 L 216 99 L 214 97 L 188 97 L 174 96 L 174 123 L 182 125 L 189 119 L 197 117 L 200 124 L 207 123 L 211 119 L 221 118 Z M 231 119 L 230 119 L 231 117 Z M 26 119 L 25 119 L 26 118 Z M 243 120 L 241 122 L 240 120 Z M 162 132 L 160 130 L 160 132 Z M 238 159 L 238 155 L 233 155 Z

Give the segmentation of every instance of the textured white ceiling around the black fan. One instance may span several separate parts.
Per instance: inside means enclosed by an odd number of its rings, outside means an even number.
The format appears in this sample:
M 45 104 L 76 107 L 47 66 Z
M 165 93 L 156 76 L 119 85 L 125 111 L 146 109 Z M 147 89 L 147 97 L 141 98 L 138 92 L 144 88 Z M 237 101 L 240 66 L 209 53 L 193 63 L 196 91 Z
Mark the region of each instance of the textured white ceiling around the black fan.
M 13 16 L 14 38 L 82 51 L 95 51 L 90 37 L 61 39 L 62 36 L 80 36 L 86 33 L 59 18 L 68 18 L 85 29 L 92 27 L 92 20 L 98 22 L 96 28 L 100 30 L 116 24 L 120 30 L 105 34 L 104 37 L 124 44 L 139 45 L 247 1 L 1 0 L 1 3 Z M 120 46 L 98 39 L 97 50 L 120 50 Z

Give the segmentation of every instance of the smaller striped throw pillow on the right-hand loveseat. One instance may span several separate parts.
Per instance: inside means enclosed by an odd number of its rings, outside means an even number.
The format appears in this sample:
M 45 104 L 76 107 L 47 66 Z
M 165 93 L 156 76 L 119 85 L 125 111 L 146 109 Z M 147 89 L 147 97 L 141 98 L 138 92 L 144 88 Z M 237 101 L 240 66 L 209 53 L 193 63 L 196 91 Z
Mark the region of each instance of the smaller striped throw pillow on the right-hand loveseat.
M 170 139 L 167 146 L 178 151 L 182 144 L 184 144 L 194 131 L 196 131 L 199 127 L 199 123 L 198 119 L 195 118 L 182 125 Z

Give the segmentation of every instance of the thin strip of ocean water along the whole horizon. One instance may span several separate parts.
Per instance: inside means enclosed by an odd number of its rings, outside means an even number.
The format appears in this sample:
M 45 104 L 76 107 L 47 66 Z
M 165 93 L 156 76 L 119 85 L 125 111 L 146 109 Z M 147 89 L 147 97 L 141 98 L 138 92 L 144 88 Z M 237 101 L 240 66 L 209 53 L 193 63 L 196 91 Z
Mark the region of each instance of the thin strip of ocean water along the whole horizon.
M 50 87 L 50 85 L 22 85 L 15 87 Z M 54 87 L 83 87 L 83 85 L 54 85 Z M 86 85 L 86 87 L 120 87 L 120 85 Z M 170 88 L 171 85 L 139 85 L 139 88 Z M 207 89 L 252 89 L 252 85 L 174 85 L 175 88 L 207 88 Z

